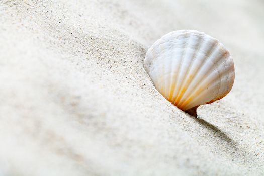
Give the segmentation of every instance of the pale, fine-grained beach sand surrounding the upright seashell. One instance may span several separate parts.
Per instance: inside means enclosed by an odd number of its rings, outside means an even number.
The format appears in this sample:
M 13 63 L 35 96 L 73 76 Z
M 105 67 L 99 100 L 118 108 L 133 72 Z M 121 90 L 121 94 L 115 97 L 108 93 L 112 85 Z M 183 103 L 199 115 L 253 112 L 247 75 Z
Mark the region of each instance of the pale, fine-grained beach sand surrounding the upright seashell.
M 0 0 L 0 175 L 264 175 L 263 1 Z M 236 78 L 195 119 L 155 90 L 147 49 L 179 29 Z

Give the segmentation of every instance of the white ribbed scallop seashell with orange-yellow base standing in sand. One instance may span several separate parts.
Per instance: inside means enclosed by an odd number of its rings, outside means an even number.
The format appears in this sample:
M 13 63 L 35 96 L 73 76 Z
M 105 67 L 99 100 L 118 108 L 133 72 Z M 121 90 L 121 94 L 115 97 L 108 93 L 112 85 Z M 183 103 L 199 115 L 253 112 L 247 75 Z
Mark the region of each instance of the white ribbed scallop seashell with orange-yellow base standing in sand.
M 234 83 L 234 63 L 217 39 L 195 30 L 170 32 L 147 51 L 144 67 L 156 89 L 173 105 L 196 109 L 225 97 Z

